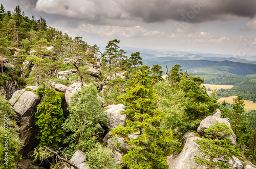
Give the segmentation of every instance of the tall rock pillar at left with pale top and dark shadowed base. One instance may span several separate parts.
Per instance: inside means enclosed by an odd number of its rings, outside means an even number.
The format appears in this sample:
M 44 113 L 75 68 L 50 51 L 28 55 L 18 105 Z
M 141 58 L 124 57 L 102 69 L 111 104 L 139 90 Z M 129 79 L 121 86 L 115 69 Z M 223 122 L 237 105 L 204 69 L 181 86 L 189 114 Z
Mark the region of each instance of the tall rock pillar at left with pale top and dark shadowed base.
M 24 144 L 23 149 L 19 152 L 21 155 L 27 155 L 37 146 L 35 136 L 38 133 L 38 129 L 34 125 L 34 114 L 40 98 L 33 91 L 37 88 L 37 86 L 28 86 L 25 89 L 17 90 L 9 101 L 10 104 L 13 104 L 13 110 L 20 125 L 20 139 Z

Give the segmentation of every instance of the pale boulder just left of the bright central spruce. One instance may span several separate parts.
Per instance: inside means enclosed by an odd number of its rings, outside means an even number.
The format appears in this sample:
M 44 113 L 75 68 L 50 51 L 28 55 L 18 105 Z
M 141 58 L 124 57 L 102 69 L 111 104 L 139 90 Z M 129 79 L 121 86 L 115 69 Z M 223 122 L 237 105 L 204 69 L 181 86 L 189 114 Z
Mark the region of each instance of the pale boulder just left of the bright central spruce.
M 126 107 L 123 104 L 110 105 L 104 108 L 109 119 L 109 122 L 107 124 L 108 128 L 116 128 L 117 126 L 126 126 L 126 123 L 125 123 L 126 115 L 121 114 L 121 111 L 124 111 L 125 109 Z

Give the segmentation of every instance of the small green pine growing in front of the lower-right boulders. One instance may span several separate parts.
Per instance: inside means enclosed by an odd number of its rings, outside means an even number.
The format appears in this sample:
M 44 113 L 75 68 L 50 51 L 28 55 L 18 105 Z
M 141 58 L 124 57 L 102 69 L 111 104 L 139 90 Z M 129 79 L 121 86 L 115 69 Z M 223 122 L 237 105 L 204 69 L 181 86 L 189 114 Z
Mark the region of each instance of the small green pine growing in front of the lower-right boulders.
M 223 161 L 216 161 L 214 158 L 224 158 L 229 160 L 232 155 L 238 155 L 239 151 L 235 146 L 231 146 L 231 140 L 223 135 L 230 135 L 231 130 L 225 123 L 218 121 L 214 126 L 204 130 L 206 136 L 197 139 L 198 150 L 202 157 L 195 156 L 196 163 L 208 168 L 229 168 Z

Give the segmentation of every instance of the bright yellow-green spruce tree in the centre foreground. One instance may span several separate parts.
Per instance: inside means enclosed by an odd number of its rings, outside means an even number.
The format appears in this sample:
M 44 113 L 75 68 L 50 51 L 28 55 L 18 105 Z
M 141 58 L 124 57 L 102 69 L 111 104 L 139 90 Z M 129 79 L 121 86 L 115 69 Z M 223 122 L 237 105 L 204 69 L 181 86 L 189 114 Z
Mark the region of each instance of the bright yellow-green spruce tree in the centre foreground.
M 119 99 L 126 105 L 126 127 L 118 126 L 112 134 L 127 136 L 138 133 L 129 141 L 133 146 L 122 158 L 129 168 L 168 168 L 164 156 L 172 147 L 172 131 L 161 127 L 165 116 L 156 106 L 158 95 L 154 93 L 147 70 L 137 72 L 130 87 Z

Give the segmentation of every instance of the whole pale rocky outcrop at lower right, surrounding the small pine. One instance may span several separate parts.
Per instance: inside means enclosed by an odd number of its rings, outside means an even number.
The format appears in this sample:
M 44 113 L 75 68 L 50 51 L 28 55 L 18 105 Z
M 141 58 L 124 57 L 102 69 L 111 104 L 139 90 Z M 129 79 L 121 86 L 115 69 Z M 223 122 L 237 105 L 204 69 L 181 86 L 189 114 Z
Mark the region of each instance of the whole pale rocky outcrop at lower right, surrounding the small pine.
M 203 130 L 209 128 L 210 125 L 214 125 L 217 120 L 220 123 L 226 123 L 230 127 L 228 119 L 221 118 L 221 112 L 217 109 L 214 115 L 208 116 L 204 120 L 202 120 L 200 126 L 198 127 L 198 133 L 204 135 Z M 233 135 L 232 137 L 234 138 L 233 143 L 236 143 L 236 135 Z M 175 152 L 174 154 L 167 156 L 166 158 L 166 163 L 169 165 L 169 169 L 206 168 L 196 164 L 194 159 L 194 155 L 198 157 L 201 156 L 201 153 L 197 149 L 197 139 L 201 138 L 196 133 L 188 132 L 183 136 L 184 148 L 182 149 L 181 153 L 178 154 L 177 152 Z M 230 168 L 234 169 L 254 168 L 254 165 L 250 162 L 242 162 L 235 156 L 232 156 L 229 160 L 226 160 L 224 158 L 215 158 L 214 160 L 223 161 L 226 164 L 229 164 Z

